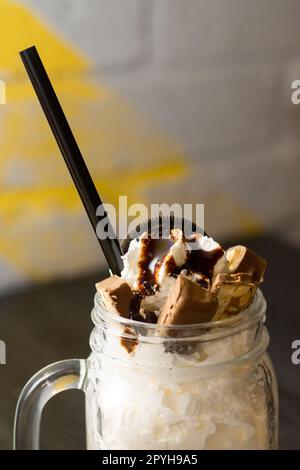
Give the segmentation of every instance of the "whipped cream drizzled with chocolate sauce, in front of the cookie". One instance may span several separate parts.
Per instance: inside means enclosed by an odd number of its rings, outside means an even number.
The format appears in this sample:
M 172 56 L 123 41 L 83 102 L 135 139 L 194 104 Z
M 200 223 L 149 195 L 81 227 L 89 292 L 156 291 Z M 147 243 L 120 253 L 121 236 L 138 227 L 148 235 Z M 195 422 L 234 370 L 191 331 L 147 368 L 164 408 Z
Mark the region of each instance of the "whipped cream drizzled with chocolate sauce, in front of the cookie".
M 150 247 L 150 244 L 153 246 Z M 175 229 L 168 240 L 151 240 L 145 232 L 139 239 L 130 242 L 128 251 L 123 256 L 124 269 L 121 277 L 134 291 L 141 292 L 145 271 L 148 271 L 148 277 L 149 273 L 150 277 L 152 276 L 152 290 L 143 292 L 142 308 L 158 314 L 174 286 L 175 277 L 180 273 L 192 281 L 206 280 L 209 284 L 206 276 L 188 265 L 194 250 L 206 253 L 220 251 L 221 255 L 215 261 L 212 260 L 212 279 L 219 272 L 227 272 L 225 252 L 211 237 L 197 234 L 196 238 L 190 241 L 184 237 L 181 230 Z

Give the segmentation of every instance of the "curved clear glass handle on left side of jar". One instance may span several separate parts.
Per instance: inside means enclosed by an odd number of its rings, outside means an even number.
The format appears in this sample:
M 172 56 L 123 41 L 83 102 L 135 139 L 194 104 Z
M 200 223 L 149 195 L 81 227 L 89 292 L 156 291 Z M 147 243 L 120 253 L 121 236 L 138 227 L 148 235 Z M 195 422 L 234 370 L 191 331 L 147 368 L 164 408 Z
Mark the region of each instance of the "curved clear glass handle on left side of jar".
M 39 449 L 43 409 L 50 398 L 70 389 L 82 390 L 85 361 L 68 359 L 37 372 L 27 382 L 18 400 L 14 424 L 14 449 Z

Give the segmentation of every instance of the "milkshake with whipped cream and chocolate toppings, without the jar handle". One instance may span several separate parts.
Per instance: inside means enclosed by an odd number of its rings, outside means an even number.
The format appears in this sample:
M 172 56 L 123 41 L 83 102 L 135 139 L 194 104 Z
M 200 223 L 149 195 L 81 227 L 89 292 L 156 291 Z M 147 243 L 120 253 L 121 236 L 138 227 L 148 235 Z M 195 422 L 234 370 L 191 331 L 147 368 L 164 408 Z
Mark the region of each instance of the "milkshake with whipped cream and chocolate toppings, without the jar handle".
M 173 229 L 132 240 L 123 261 L 96 285 L 88 448 L 276 448 L 265 260 Z

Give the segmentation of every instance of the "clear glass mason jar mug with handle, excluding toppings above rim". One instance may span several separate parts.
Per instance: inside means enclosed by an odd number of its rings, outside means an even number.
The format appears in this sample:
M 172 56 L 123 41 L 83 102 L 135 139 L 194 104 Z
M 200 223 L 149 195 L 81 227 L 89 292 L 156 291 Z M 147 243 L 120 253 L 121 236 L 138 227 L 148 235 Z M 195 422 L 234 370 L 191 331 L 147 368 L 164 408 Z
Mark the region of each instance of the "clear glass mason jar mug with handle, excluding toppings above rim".
M 266 302 L 227 320 L 161 326 L 108 312 L 95 296 L 91 354 L 38 372 L 19 398 L 15 448 L 39 446 L 41 412 L 85 392 L 88 449 L 276 449 L 278 390 Z

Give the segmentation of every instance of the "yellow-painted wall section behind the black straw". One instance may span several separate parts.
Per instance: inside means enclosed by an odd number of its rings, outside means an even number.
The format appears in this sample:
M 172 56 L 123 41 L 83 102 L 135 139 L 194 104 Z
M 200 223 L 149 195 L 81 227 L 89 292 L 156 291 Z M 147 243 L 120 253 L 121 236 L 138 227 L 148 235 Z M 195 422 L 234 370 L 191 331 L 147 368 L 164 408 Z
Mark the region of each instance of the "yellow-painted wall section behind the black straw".
M 146 201 L 147 187 L 182 178 L 181 151 L 99 80 L 89 61 L 52 25 L 0 0 L 0 270 L 14 283 L 103 266 L 18 52 L 35 44 L 63 103 L 103 200 Z

